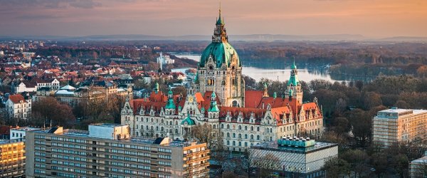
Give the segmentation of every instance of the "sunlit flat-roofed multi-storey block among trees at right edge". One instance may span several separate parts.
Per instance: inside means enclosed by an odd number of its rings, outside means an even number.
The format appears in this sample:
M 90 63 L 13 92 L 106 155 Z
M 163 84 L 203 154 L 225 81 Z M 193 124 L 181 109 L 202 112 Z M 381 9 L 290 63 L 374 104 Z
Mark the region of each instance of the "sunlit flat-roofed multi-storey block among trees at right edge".
M 372 140 L 389 147 L 396 142 L 426 139 L 427 110 L 391 108 L 381 110 L 372 119 Z

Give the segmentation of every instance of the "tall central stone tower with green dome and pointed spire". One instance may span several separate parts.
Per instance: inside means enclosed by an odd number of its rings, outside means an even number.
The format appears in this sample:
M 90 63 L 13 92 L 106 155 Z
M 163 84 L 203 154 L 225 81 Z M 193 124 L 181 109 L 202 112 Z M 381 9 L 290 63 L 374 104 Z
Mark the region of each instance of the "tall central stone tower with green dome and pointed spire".
M 244 107 L 245 81 L 242 78 L 241 61 L 236 50 L 228 43 L 221 9 L 212 43 L 201 54 L 195 83 L 200 93 L 215 92 L 223 106 Z

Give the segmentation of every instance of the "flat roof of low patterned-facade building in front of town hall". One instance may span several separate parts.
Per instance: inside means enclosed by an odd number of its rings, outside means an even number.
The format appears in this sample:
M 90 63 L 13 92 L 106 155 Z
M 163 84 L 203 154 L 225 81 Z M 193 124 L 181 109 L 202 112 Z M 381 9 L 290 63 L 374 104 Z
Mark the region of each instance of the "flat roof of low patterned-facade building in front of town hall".
M 310 147 L 289 147 L 278 145 L 277 142 L 263 142 L 257 145 L 252 146 L 253 149 L 259 150 L 273 150 L 277 152 L 295 152 L 295 153 L 310 153 L 317 152 L 319 150 L 324 150 L 330 147 L 337 147 L 336 143 L 327 143 L 327 142 L 315 142 L 315 145 Z

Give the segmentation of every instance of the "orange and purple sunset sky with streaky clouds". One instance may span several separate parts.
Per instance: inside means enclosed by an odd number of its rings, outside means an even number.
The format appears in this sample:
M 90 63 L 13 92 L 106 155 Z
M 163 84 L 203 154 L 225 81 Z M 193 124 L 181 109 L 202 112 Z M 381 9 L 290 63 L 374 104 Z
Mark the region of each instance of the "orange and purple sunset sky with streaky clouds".
M 211 35 L 219 0 L 0 0 L 0 36 Z M 228 35 L 427 36 L 426 0 L 222 0 Z

